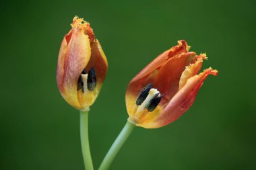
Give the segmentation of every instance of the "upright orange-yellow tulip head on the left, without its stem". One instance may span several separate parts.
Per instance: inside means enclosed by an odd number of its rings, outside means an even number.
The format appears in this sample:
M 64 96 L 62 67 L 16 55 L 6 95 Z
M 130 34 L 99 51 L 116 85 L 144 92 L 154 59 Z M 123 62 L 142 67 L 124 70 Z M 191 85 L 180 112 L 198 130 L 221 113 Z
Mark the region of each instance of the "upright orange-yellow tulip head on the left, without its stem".
M 59 50 L 57 86 L 77 110 L 88 111 L 106 77 L 108 63 L 90 24 L 75 16 Z

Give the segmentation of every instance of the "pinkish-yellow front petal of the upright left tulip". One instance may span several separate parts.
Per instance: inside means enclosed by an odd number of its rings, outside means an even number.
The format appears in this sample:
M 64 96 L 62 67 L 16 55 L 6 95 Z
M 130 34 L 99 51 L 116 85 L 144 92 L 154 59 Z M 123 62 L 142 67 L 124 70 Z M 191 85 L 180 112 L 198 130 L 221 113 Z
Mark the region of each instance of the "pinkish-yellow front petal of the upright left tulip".
M 91 56 L 90 40 L 80 26 L 73 26 L 73 35 L 67 45 L 64 79 L 65 100 L 73 107 L 82 109 L 77 99 L 77 80 L 88 64 Z

